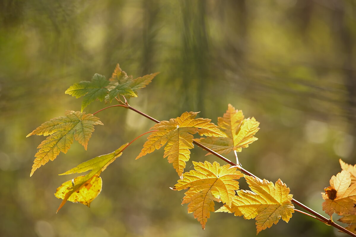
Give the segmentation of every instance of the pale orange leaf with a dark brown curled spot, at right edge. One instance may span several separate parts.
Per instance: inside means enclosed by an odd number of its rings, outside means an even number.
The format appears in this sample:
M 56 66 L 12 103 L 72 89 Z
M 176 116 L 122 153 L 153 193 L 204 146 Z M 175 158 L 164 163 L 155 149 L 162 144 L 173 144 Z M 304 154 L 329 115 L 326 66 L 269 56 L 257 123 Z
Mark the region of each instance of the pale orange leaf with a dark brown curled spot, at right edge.
M 321 193 L 323 199 L 323 211 L 329 216 L 335 212 L 339 216 L 356 214 L 356 183 L 351 184 L 350 172 L 341 171 L 331 177 L 330 186 Z

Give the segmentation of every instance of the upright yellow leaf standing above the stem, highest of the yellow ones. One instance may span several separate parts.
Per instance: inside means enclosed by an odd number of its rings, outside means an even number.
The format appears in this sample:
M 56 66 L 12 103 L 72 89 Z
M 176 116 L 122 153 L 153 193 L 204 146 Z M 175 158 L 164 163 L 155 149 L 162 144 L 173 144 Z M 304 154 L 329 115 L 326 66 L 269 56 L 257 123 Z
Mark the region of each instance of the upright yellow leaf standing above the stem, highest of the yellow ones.
M 260 123 L 253 117 L 244 119 L 242 111 L 235 110 L 231 104 L 228 105 L 224 116 L 218 118 L 218 125 L 226 133 L 226 138 L 209 137 L 194 140 L 215 152 L 228 154 L 231 151 L 241 152 L 242 148 L 248 147 L 258 139 L 253 135 L 260 129 L 258 128 Z

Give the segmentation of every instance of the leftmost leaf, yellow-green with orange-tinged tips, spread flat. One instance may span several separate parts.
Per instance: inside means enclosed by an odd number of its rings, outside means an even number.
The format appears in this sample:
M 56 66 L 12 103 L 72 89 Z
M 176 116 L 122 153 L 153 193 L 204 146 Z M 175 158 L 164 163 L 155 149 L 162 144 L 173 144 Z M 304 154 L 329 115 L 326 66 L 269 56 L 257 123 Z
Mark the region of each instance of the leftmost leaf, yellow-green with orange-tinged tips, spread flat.
M 73 143 L 73 136 L 87 150 L 89 139 L 94 131 L 94 125 L 103 125 L 103 123 L 93 114 L 67 110 L 65 116 L 52 118 L 29 133 L 26 137 L 31 135 L 50 135 L 37 147 L 40 150 L 35 155 L 36 159 L 33 161 L 30 176 L 48 161 L 53 161 L 61 151 L 67 153 Z

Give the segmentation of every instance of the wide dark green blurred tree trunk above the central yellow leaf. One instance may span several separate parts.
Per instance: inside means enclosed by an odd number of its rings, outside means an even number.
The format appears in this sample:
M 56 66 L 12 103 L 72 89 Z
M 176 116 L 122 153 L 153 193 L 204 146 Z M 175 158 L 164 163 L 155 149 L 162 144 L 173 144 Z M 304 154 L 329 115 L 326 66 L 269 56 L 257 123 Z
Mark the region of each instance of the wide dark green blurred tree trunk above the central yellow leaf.
M 205 84 L 208 80 L 209 49 L 206 33 L 206 1 L 182 1 L 182 108 L 204 111 Z M 199 114 L 203 117 L 203 114 Z

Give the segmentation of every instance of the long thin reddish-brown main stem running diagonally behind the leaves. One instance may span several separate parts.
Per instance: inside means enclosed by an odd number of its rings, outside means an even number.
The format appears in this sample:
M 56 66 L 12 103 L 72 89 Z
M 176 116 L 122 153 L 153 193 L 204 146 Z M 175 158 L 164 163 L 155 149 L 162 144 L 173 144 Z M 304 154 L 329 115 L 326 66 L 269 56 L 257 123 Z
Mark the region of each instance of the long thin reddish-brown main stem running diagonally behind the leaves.
M 147 114 L 145 114 L 145 113 L 143 113 L 143 112 L 141 112 L 141 111 L 139 111 L 139 110 L 137 110 L 137 109 L 135 109 L 135 108 L 133 108 L 133 107 L 131 107 L 131 106 L 125 106 L 125 105 L 116 105 L 116 106 L 122 106 L 122 107 L 125 107 L 125 108 L 127 108 L 127 109 L 131 109 L 132 111 L 135 111 L 136 113 L 141 114 L 142 116 L 144 116 L 144 117 L 146 117 L 146 118 L 152 120 L 152 121 L 155 122 L 155 123 L 159 123 L 159 122 L 160 122 L 160 121 L 158 121 L 157 119 L 152 118 L 151 116 L 149 116 L 149 115 L 147 115 Z M 110 108 L 110 107 L 114 107 L 114 106 L 109 106 L 109 107 L 106 107 L 106 108 L 104 108 L 104 109 L 107 109 L 107 108 Z M 101 110 L 104 110 L 104 109 L 101 109 Z M 100 111 L 101 111 L 101 110 L 100 110 Z M 100 112 L 100 111 L 98 111 L 98 112 Z M 95 112 L 95 113 L 98 113 L 98 112 Z M 95 113 L 94 113 L 94 114 L 95 114 Z M 142 135 L 143 135 L 143 134 L 142 134 Z M 200 143 L 197 142 L 197 141 L 193 141 L 193 144 L 195 144 L 195 145 L 197 145 L 197 146 L 203 148 L 204 150 L 206 150 L 206 151 L 212 153 L 212 154 L 215 155 L 216 157 L 220 158 L 221 160 L 225 161 L 226 163 L 229 163 L 229 164 L 232 165 L 232 166 L 237 166 L 237 165 L 238 165 L 238 164 L 235 164 L 234 162 L 230 161 L 229 159 L 225 158 L 224 156 L 220 155 L 219 153 L 217 153 L 217 152 L 215 152 L 215 151 L 209 149 L 208 147 L 204 146 L 203 144 L 200 144 Z M 241 170 L 241 172 L 243 172 L 243 173 L 245 173 L 245 174 L 247 174 L 247 175 L 249 175 L 249 176 L 258 178 L 257 176 L 255 176 L 254 174 L 250 173 L 249 171 L 247 171 L 246 169 L 244 169 L 244 168 L 242 168 L 242 167 L 241 167 L 240 170 Z M 328 218 L 322 216 L 322 215 L 319 214 L 318 212 L 316 212 L 316 211 L 312 210 L 311 208 L 305 206 L 304 204 L 300 203 L 299 201 L 297 201 L 297 200 L 295 200 L 295 199 L 292 199 L 292 202 L 293 202 L 294 204 L 300 206 L 300 207 L 303 208 L 304 210 L 306 210 L 306 211 L 312 213 L 313 215 L 315 215 L 315 216 L 317 217 L 316 220 L 320 220 L 321 222 L 323 222 L 323 223 L 326 224 L 326 225 L 334 226 L 335 228 L 341 230 L 342 232 L 347 233 L 347 234 L 350 235 L 350 236 L 356 237 L 356 234 L 352 233 L 352 232 L 349 231 L 349 230 L 346 230 L 344 227 L 342 227 L 342 226 L 336 224 L 335 222 L 331 221 L 330 219 L 328 219 Z M 307 214 L 307 213 L 306 213 L 306 214 Z M 312 215 L 311 215 L 311 216 L 312 216 Z M 313 217 L 313 216 L 312 216 L 312 217 Z M 313 218 L 314 218 L 314 217 L 313 217 Z

